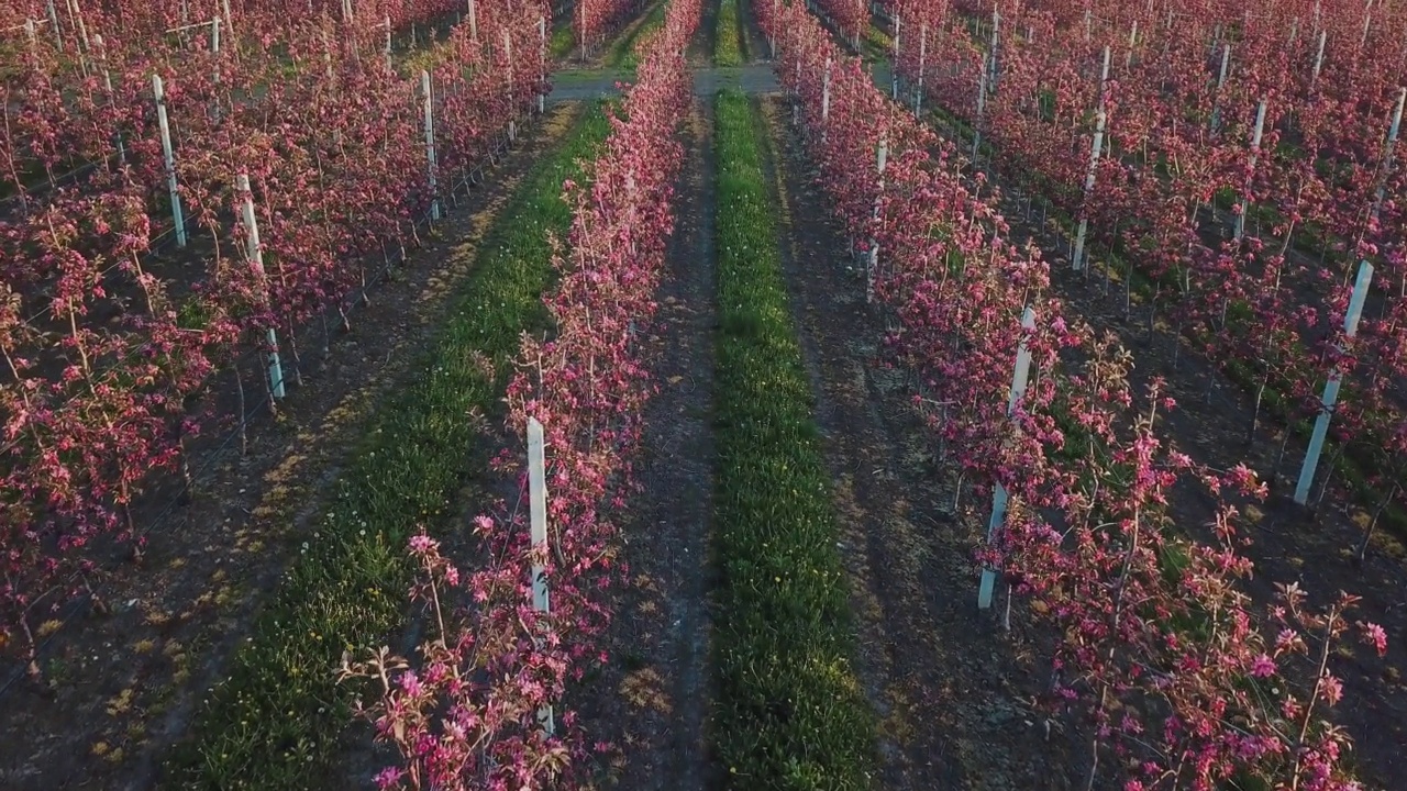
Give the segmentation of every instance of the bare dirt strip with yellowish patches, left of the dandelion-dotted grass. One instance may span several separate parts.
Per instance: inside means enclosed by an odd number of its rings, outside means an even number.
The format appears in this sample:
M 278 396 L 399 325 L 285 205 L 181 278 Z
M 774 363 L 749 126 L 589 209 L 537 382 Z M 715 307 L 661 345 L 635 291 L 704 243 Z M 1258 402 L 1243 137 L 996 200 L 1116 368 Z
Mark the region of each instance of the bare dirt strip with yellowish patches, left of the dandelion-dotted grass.
M 339 460 L 386 393 L 408 373 L 477 239 L 570 107 L 535 124 L 519 151 L 461 198 L 422 251 L 373 284 L 325 360 L 305 352 L 303 387 L 277 421 L 250 428 L 212 466 L 191 502 L 151 533 L 141 566 L 104 573 L 110 615 L 79 618 L 42 663 L 51 688 L 13 684 L 0 700 L 0 788 L 149 788 L 198 692 L 222 677 L 263 594 L 318 512 Z M 249 381 L 255 381 L 249 379 Z

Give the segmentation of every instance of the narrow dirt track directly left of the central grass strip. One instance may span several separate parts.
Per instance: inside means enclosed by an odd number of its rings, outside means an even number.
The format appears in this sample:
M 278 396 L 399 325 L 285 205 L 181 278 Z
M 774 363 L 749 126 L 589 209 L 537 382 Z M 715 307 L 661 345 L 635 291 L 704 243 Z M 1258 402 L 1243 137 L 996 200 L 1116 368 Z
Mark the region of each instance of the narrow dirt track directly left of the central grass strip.
M 704 791 L 708 760 L 709 529 L 713 515 L 713 327 L 716 213 L 712 124 L 695 104 L 678 183 L 678 227 L 650 335 L 660 386 L 646 412 L 642 493 L 622 531 L 630 587 L 588 678 L 582 721 L 616 746 L 601 767 L 613 788 Z

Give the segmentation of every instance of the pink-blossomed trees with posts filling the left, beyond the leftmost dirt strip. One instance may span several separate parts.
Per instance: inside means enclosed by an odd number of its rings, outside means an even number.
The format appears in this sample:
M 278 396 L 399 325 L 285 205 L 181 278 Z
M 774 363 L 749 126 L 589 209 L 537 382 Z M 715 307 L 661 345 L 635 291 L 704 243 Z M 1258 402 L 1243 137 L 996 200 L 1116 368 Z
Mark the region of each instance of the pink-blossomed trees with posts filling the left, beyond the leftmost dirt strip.
M 139 545 L 144 488 L 242 425 L 239 363 L 283 397 L 298 331 L 539 106 L 545 4 L 477 0 L 401 65 L 393 32 L 452 6 L 0 4 L 0 642 L 32 652 L 84 545 Z

